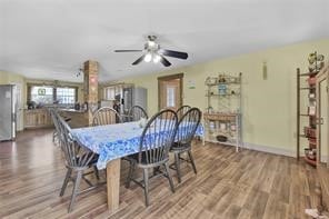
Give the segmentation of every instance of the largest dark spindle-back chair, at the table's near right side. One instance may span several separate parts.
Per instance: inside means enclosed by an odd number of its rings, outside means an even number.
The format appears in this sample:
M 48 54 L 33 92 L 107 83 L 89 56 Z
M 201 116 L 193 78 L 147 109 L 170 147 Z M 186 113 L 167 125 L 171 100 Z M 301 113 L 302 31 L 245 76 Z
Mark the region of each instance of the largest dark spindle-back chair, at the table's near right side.
M 171 191 L 175 192 L 173 182 L 169 172 L 169 149 L 173 142 L 177 130 L 177 116 L 172 110 L 162 110 L 154 115 L 147 123 L 140 138 L 139 152 L 128 158 L 131 160 L 126 187 L 132 180 L 144 189 L 146 206 L 149 206 L 149 179 L 154 176 L 164 176 L 169 180 Z M 143 170 L 143 180 L 133 179 L 134 169 Z M 149 169 L 164 167 L 149 177 Z

